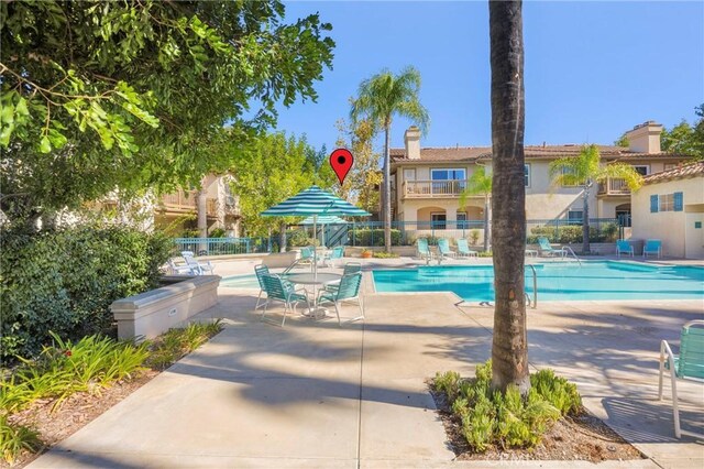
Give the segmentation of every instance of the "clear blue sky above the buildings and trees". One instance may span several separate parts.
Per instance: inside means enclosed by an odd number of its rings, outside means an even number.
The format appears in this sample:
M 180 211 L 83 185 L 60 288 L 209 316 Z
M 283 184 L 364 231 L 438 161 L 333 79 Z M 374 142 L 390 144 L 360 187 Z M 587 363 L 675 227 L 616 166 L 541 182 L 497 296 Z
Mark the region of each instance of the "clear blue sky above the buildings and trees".
M 320 12 L 337 42 L 317 103 L 279 109 L 278 130 L 334 146 L 359 84 L 416 66 L 431 123 L 422 146 L 490 145 L 488 6 L 287 2 Z M 526 144 L 612 143 L 646 120 L 672 127 L 704 102 L 704 2 L 525 2 Z M 409 122 L 394 121 L 403 146 Z M 378 140 L 381 148 L 382 140 Z

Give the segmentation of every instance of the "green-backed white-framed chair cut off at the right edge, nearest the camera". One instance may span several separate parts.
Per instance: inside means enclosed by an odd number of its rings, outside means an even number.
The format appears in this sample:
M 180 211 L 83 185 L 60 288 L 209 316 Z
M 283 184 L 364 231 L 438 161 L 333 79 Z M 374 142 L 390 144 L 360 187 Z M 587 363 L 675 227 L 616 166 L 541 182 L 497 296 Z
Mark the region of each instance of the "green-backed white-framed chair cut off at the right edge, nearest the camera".
M 689 435 L 704 438 L 704 434 L 685 432 L 680 428 L 678 407 L 678 379 L 704 382 L 704 320 L 691 320 L 682 327 L 680 335 L 680 356 L 672 353 L 667 340 L 660 342 L 660 380 L 658 399 L 662 400 L 662 375 L 670 372 L 672 383 L 672 413 L 674 416 L 674 436 Z

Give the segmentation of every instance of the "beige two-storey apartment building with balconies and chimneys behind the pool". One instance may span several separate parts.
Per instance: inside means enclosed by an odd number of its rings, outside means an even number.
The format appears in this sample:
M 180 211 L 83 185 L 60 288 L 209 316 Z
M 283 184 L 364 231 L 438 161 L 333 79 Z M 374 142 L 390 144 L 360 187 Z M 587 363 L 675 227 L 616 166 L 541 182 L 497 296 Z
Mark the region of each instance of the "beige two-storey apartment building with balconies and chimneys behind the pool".
M 647 176 L 676 167 L 688 156 L 662 152 L 662 126 L 648 121 L 627 132 L 629 146 L 598 145 L 603 164 L 631 164 Z M 581 144 L 526 145 L 526 217 L 529 220 L 582 219 L 582 188 L 551 187 L 548 166 L 563 156 L 576 156 Z M 491 146 L 421 148 L 420 131 L 410 127 L 405 148 L 392 149 L 392 212 L 394 220 L 418 222 L 436 229 L 457 229 L 464 220 L 484 219 L 484 198 L 460 194 L 479 166 L 492 168 Z M 590 194 L 590 218 L 620 217 L 630 223 L 630 190 L 623 179 L 608 179 Z M 465 223 L 466 225 L 466 223 Z

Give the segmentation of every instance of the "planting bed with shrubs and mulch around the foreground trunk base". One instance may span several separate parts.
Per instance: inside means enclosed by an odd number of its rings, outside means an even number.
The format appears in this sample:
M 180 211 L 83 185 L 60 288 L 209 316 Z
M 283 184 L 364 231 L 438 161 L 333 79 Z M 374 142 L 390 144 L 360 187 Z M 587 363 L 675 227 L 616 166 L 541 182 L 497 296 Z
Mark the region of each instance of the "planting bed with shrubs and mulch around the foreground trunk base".
M 491 362 L 477 378 L 438 373 L 430 392 L 458 460 L 604 460 L 645 456 L 581 404 L 576 388 L 550 370 L 531 375 L 529 396 L 498 395 Z M 537 386 L 536 386 L 537 384 Z

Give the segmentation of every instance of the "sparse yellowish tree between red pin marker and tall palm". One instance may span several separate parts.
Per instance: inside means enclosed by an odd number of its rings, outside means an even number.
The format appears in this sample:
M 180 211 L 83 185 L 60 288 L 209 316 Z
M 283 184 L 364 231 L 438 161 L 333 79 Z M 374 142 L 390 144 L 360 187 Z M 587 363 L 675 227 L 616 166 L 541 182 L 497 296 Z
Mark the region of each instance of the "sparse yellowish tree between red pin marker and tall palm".
M 354 156 L 354 165 L 340 187 L 340 197 L 355 199 L 359 207 L 375 211 L 380 201 L 376 188 L 382 182 L 381 155 L 374 151 L 376 129 L 369 120 L 349 126 L 340 120 L 337 126 L 340 131 L 337 145 L 349 149 Z

